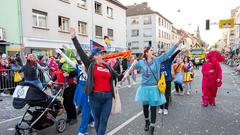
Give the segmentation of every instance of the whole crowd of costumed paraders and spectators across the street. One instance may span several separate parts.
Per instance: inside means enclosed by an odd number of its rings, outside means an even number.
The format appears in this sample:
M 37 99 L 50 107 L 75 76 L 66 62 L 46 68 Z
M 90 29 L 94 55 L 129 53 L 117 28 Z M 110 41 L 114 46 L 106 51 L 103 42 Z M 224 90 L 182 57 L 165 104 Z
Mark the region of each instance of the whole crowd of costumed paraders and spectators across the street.
M 65 110 L 66 122 L 73 125 L 77 122 L 78 110 L 81 110 L 78 135 L 88 134 L 89 125 L 95 128 L 97 135 L 106 133 L 111 113 L 121 112 L 118 87 L 122 87 L 124 81 L 127 81 L 127 87 L 136 84 L 138 74 L 141 82 L 135 100 L 142 104 L 143 130 L 150 135 L 154 134 L 157 113 L 168 114 L 172 89 L 180 96 L 192 93 L 194 62 L 181 54 L 181 44 L 186 34 L 165 53 L 157 56 L 152 47 L 146 47 L 142 57 L 131 56 L 128 51 L 114 55 L 102 48 L 92 48 L 88 55 L 81 48 L 75 29 L 71 28 L 70 34 L 75 49 L 63 46 L 56 49 L 56 56 L 24 54 L 23 45 L 16 56 L 3 54 L 0 58 L 0 89 L 8 87 L 8 94 L 12 95 L 14 87 L 10 86 L 11 83 L 18 85 L 28 82 L 39 90 L 54 85 L 54 82 L 61 83 L 58 87 L 65 88 L 62 96 L 64 109 L 59 112 Z M 222 85 L 220 62 L 223 61 L 224 57 L 217 51 L 206 55 L 201 70 L 203 107 L 216 106 L 217 89 Z M 240 72 L 239 55 L 226 63 L 238 63 L 235 70 L 236 73 Z M 6 91 L 1 91 L 1 96 L 6 96 Z

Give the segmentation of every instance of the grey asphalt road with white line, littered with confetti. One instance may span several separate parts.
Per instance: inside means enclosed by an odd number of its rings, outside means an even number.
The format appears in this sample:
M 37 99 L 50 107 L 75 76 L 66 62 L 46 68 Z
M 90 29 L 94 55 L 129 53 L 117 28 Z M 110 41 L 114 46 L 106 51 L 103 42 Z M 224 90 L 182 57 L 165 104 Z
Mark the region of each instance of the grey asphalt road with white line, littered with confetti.
M 157 116 L 156 135 L 240 135 L 240 76 L 231 75 L 232 69 L 222 65 L 223 86 L 218 90 L 216 107 L 201 106 L 201 73 L 196 71 L 190 96 L 173 95 L 169 115 Z M 138 82 L 140 78 L 138 78 Z M 111 115 L 107 134 L 145 135 L 141 104 L 134 101 L 139 83 L 120 89 L 122 113 Z M 15 124 L 24 110 L 12 108 L 12 99 L 2 97 L 0 102 L 0 135 L 13 135 Z M 68 126 L 63 135 L 76 135 L 78 124 Z M 54 127 L 38 132 L 39 135 L 57 134 Z M 89 134 L 95 135 L 94 128 Z

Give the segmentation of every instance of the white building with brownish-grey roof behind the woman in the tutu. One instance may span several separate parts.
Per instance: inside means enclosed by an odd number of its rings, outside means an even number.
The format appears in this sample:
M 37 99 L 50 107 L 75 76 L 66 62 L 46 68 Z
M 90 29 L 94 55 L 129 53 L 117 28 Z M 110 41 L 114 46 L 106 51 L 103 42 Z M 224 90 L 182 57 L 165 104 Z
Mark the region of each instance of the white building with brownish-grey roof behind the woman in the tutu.
M 135 53 L 142 53 L 147 46 L 155 52 L 165 51 L 172 43 L 172 23 L 147 3 L 128 6 L 127 44 Z

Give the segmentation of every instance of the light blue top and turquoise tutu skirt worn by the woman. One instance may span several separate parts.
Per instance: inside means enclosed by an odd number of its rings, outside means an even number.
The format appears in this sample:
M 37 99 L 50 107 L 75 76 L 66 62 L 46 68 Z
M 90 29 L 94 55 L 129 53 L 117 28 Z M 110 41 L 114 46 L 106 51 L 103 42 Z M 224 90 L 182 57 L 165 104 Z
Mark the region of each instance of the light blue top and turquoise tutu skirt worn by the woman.
M 141 85 L 139 86 L 135 100 L 143 103 L 143 105 L 149 104 L 150 106 L 159 106 L 166 102 L 165 96 L 159 92 L 157 83 L 155 79 L 160 78 L 160 63 L 169 59 L 173 54 L 176 46 L 173 46 L 165 54 L 154 58 L 151 62 L 146 62 L 145 60 L 139 60 L 135 68 L 140 69 L 142 76 Z M 156 73 L 153 75 L 153 73 Z

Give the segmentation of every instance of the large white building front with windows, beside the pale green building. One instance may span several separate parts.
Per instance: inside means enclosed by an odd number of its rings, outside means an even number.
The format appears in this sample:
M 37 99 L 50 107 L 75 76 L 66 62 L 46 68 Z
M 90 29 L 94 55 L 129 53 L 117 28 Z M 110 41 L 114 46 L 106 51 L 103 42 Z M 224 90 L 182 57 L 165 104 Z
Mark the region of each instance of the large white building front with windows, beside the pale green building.
M 90 40 L 105 45 L 104 36 L 110 37 L 112 49 L 126 48 L 126 7 L 117 0 L 22 0 L 21 5 L 23 42 L 31 52 L 73 47 L 70 27 L 85 50 Z

